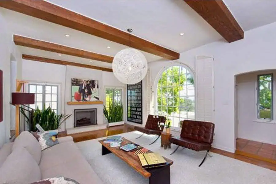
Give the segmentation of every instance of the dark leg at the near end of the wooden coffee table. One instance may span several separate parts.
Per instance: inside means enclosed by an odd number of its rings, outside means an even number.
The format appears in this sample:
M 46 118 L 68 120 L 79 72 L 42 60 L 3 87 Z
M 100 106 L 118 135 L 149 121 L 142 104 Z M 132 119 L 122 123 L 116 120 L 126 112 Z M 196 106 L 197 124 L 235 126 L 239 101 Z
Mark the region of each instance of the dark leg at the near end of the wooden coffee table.
M 170 164 L 167 164 L 163 167 L 156 167 L 152 169 L 148 169 L 151 173 L 151 177 L 149 178 L 149 184 L 170 184 Z

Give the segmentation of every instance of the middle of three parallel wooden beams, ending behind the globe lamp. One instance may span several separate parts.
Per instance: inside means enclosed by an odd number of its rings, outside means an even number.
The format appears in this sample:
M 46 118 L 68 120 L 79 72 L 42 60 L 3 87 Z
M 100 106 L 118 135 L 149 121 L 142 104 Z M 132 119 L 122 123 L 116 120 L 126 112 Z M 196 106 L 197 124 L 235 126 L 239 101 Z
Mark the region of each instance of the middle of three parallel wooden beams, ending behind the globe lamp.
M 103 61 L 106 63 L 112 63 L 113 57 L 97 54 L 94 52 L 84 51 L 77 48 L 71 48 L 64 45 L 54 44 L 46 41 L 36 40 L 19 35 L 13 35 L 13 41 L 16 45 L 24 47 L 36 48 L 44 51 L 57 52 L 61 54 L 67 54 L 70 56 L 77 56 L 86 59 L 93 59 Z

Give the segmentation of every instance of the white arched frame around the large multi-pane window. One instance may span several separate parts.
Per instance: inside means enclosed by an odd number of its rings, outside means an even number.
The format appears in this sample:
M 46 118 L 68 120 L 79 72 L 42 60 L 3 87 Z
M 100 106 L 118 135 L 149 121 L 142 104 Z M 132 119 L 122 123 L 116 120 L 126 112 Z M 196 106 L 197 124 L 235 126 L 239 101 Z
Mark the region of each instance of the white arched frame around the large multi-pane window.
M 166 71 L 168 68 L 170 67 L 173 67 L 173 66 L 179 66 L 179 67 L 185 67 L 186 70 L 188 70 L 190 72 L 190 74 L 192 75 L 193 79 L 194 79 L 194 103 L 195 103 L 195 106 L 194 106 L 194 116 L 195 116 L 195 120 L 197 119 L 197 89 L 196 89 L 196 78 L 195 78 L 195 72 L 194 70 L 192 70 L 188 65 L 184 64 L 184 63 L 181 63 L 179 61 L 173 61 L 171 63 L 169 63 L 167 66 L 164 66 L 157 74 L 155 80 L 154 80 L 154 86 L 153 86 L 153 89 L 154 89 L 154 114 L 158 114 L 158 101 L 157 101 L 157 86 L 158 86 L 158 82 L 159 82 L 159 79 L 161 78 L 162 74 L 164 71 Z M 180 127 L 173 127 L 171 126 L 171 129 L 172 130 L 175 130 L 175 131 L 178 131 L 180 132 L 181 131 L 181 128 Z

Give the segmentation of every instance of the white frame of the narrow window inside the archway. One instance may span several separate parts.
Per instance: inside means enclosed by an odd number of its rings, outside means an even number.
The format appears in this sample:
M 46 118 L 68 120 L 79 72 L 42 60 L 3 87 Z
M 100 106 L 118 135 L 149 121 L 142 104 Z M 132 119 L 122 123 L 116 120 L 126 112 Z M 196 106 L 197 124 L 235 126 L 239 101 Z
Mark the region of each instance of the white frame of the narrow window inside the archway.
M 271 119 L 263 119 L 263 118 L 258 118 L 258 79 L 260 75 L 270 75 L 272 74 L 272 120 Z M 267 72 L 262 72 L 259 73 L 256 77 L 256 82 L 255 82 L 255 120 L 253 122 L 258 122 L 258 123 L 270 123 L 270 124 L 276 124 L 276 72 L 271 72 L 271 71 L 267 71 Z

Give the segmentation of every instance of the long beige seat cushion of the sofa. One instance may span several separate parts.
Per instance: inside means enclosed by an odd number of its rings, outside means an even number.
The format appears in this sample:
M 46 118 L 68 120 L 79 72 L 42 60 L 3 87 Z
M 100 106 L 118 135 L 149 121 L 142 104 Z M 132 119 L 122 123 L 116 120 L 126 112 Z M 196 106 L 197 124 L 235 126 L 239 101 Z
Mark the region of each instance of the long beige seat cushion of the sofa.
M 72 141 L 42 151 L 40 170 L 42 178 L 64 176 L 81 184 L 102 183 L 79 148 Z

